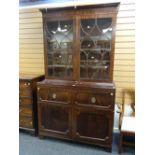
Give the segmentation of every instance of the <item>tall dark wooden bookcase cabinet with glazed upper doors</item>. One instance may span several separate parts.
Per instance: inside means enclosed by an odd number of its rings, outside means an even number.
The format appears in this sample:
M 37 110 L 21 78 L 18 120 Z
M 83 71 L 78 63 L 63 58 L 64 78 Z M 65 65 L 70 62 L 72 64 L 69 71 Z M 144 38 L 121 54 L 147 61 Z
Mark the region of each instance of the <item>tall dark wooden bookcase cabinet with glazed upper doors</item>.
M 45 80 L 38 83 L 39 135 L 111 150 L 118 4 L 41 10 Z

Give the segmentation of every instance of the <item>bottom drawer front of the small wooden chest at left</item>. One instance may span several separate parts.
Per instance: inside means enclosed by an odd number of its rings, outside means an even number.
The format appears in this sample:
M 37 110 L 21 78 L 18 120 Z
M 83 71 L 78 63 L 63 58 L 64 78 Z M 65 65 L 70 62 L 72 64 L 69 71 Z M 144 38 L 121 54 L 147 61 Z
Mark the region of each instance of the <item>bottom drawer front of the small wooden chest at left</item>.
M 25 128 L 33 128 L 32 117 L 20 117 L 19 126 Z

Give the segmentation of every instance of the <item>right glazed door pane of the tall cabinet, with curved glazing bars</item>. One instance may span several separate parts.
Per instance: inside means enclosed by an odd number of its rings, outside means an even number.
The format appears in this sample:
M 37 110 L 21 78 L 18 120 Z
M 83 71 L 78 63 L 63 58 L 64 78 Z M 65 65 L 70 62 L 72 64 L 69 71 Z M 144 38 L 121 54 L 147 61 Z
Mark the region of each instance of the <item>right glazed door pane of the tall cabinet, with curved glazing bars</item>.
M 81 20 L 80 78 L 108 80 L 112 18 Z

